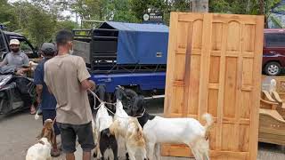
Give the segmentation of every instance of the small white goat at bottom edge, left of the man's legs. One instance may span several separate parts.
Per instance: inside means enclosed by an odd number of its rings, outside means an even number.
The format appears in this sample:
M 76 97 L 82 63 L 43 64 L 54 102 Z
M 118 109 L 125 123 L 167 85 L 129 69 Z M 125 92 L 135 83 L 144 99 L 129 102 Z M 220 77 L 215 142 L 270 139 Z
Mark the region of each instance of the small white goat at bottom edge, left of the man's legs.
M 51 149 L 51 143 L 44 137 L 28 148 L 26 160 L 52 160 Z

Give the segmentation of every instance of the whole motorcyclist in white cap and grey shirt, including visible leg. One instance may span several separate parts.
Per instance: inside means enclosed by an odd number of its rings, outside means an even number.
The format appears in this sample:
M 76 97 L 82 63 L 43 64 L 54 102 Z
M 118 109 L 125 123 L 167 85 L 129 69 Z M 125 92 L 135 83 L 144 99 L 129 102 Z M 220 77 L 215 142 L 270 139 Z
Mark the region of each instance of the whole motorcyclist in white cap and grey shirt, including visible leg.
M 26 72 L 30 70 L 28 65 L 28 56 L 20 51 L 20 41 L 18 39 L 11 39 L 10 48 L 12 52 L 9 52 L 4 60 L 0 62 L 0 67 L 5 65 L 14 66 L 17 68 L 17 75 L 24 75 Z M 36 114 L 36 108 L 32 103 L 29 95 L 22 95 L 22 99 L 25 102 L 25 106 L 29 106 L 30 114 Z

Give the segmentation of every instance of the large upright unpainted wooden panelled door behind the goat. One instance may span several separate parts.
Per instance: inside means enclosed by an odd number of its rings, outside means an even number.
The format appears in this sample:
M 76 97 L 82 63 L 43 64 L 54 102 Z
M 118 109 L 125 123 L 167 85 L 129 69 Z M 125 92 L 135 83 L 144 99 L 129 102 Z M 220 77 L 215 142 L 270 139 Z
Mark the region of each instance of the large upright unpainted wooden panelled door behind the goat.
M 263 16 L 172 12 L 164 114 L 208 112 L 212 159 L 256 159 Z M 191 156 L 164 145 L 163 156 Z

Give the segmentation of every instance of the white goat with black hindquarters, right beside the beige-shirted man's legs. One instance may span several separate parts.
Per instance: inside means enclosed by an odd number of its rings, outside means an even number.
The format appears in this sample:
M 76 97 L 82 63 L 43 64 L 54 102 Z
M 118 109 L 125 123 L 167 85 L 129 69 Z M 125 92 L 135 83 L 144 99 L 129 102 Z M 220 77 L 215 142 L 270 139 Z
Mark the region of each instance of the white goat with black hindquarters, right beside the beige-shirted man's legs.
M 97 158 L 101 158 L 104 156 L 104 151 L 107 148 L 111 148 L 113 150 L 114 158 L 118 157 L 118 148 L 117 141 L 115 138 L 112 139 L 109 131 L 110 125 L 113 123 L 113 117 L 109 116 L 109 113 L 105 107 L 105 104 L 100 104 L 100 107 L 97 111 L 97 115 L 95 118 L 95 140 L 98 142 L 96 146 L 95 152 L 97 152 Z M 108 130 L 108 131 L 105 131 Z M 102 140 L 104 138 L 104 140 Z M 106 139 L 106 140 L 105 140 Z M 108 139 L 108 140 L 107 140 Z M 110 142 L 110 140 L 113 140 Z M 116 147 L 113 147 L 113 144 L 116 144 Z M 107 159 L 107 158 L 106 158 Z

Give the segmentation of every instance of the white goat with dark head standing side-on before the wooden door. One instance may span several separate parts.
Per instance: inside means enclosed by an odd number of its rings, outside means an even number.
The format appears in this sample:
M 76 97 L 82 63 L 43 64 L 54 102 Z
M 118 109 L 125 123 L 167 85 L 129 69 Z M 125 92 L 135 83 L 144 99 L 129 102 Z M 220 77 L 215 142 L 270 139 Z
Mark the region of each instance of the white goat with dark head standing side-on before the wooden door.
M 193 118 L 164 118 L 151 116 L 145 112 L 143 97 L 135 98 L 132 107 L 134 116 L 142 125 L 142 132 L 147 142 L 148 158 L 153 159 L 154 150 L 159 159 L 159 143 L 186 144 L 191 148 L 196 160 L 209 159 L 208 157 L 208 133 L 213 124 L 213 118 L 209 114 L 203 115 L 206 125 L 203 126 Z M 155 148 L 155 146 L 157 148 Z

